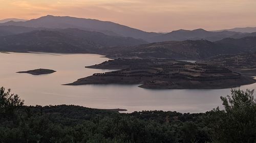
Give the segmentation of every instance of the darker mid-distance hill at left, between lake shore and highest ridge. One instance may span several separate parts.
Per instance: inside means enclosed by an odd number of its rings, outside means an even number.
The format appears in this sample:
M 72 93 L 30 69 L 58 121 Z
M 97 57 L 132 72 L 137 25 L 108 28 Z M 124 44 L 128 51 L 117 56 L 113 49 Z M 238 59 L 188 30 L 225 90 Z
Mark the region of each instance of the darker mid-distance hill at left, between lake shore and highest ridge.
M 42 30 L 0 37 L 0 50 L 63 53 L 97 53 L 104 47 L 131 46 L 146 42 L 134 38 L 108 36 L 74 28 Z

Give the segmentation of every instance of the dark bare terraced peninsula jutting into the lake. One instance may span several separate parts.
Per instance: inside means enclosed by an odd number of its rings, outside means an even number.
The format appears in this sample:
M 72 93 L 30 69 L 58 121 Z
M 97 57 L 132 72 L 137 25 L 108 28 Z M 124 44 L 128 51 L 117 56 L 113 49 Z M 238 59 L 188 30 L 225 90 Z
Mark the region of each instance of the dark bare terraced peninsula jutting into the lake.
M 67 85 L 141 84 L 148 89 L 224 89 L 256 82 L 250 76 L 206 64 L 168 59 L 117 59 L 90 68 L 120 69 L 95 73 Z

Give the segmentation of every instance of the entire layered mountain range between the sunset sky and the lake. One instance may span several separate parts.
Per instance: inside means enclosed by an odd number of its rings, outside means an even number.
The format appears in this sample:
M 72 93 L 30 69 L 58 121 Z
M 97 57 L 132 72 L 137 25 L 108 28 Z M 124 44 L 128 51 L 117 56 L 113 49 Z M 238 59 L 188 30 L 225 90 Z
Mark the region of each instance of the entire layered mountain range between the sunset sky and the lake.
M 256 32 L 197 29 L 150 33 L 109 21 L 51 15 L 0 23 L 1 51 L 197 60 L 218 54 L 253 52 L 255 49 Z

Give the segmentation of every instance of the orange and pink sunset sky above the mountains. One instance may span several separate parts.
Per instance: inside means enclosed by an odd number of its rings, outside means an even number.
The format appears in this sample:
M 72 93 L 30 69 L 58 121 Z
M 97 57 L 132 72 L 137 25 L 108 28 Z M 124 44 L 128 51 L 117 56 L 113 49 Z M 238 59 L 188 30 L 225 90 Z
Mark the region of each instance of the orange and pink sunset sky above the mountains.
M 74 16 L 148 32 L 256 26 L 255 0 L 0 0 L 0 9 L 0 19 Z

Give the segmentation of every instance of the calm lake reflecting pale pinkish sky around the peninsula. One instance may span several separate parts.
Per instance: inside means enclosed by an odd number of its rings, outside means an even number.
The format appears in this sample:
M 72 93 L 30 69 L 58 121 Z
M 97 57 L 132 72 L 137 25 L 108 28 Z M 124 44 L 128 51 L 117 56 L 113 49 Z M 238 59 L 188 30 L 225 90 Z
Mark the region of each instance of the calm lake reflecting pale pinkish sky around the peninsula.
M 26 105 L 73 104 L 91 108 L 125 108 L 127 112 L 141 110 L 176 110 L 205 112 L 222 106 L 222 90 L 149 90 L 138 85 L 61 85 L 78 78 L 110 70 L 88 69 L 108 58 L 98 54 L 0 53 L 0 87 L 11 88 Z M 47 75 L 16 73 L 38 68 L 56 70 Z M 256 83 L 240 89 L 255 89 Z

